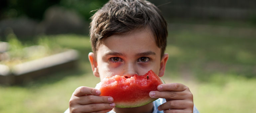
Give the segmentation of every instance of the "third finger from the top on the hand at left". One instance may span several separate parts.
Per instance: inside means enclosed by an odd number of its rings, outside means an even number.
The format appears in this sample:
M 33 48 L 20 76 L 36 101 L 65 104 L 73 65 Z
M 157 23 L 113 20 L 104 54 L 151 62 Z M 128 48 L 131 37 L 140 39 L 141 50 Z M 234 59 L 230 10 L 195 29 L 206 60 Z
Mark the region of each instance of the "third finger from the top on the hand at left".
M 113 109 L 115 107 L 115 103 L 93 103 L 87 105 L 80 105 L 78 106 L 79 112 L 88 113 L 88 112 L 95 112 L 101 110 L 108 110 Z

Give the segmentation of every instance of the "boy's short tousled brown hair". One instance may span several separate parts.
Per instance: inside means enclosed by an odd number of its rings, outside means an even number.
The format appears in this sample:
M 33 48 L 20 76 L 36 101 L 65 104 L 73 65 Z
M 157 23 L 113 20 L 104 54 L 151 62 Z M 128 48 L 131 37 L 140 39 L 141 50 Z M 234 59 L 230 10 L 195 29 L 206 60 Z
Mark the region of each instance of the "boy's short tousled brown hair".
M 110 0 L 92 17 L 90 41 L 93 53 L 103 38 L 131 30 L 149 27 L 164 55 L 167 42 L 167 25 L 161 11 L 146 0 Z

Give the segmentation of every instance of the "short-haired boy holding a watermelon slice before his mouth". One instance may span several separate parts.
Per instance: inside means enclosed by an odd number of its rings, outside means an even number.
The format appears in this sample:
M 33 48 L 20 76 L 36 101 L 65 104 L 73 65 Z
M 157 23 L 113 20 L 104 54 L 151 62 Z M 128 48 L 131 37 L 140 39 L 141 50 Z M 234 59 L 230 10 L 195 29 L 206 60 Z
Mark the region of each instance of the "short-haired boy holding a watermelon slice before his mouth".
M 168 54 L 167 26 L 160 10 L 144 0 L 110 0 L 93 16 L 90 26 L 93 74 L 105 76 L 144 75 L 152 69 L 164 75 Z M 151 91 L 152 103 L 135 108 L 115 108 L 113 98 L 99 96 L 95 88 L 81 86 L 69 101 L 70 113 L 197 113 L 189 88 L 180 83 L 161 84 Z

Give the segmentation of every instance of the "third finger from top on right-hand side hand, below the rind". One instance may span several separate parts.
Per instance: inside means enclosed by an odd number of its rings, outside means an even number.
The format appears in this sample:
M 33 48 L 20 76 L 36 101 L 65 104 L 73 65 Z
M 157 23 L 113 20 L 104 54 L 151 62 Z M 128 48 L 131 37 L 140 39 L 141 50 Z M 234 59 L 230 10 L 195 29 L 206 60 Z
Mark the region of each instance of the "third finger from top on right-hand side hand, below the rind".
M 167 110 L 167 109 L 186 109 L 193 107 L 193 102 L 187 100 L 171 100 L 163 103 L 158 106 L 158 110 Z

